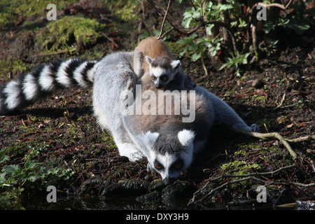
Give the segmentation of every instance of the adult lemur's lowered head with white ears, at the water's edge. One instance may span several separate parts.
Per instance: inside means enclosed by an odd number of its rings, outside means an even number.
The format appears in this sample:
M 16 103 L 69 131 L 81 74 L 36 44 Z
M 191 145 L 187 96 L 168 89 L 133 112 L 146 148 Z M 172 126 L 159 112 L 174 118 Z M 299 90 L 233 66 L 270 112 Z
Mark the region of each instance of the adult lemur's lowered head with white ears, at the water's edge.
M 193 131 L 182 130 L 172 139 L 158 132 L 146 132 L 141 139 L 148 151 L 148 171 L 158 172 L 165 185 L 176 181 L 193 161 Z

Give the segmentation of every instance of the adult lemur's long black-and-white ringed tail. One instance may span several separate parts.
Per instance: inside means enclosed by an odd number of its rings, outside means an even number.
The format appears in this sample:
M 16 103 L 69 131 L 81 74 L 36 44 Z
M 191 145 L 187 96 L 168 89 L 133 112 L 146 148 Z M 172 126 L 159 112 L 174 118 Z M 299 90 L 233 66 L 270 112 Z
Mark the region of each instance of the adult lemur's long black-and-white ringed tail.
M 0 86 L 0 115 L 23 109 L 62 88 L 90 87 L 97 65 L 97 61 L 84 59 L 57 59 L 38 65 L 30 73 Z

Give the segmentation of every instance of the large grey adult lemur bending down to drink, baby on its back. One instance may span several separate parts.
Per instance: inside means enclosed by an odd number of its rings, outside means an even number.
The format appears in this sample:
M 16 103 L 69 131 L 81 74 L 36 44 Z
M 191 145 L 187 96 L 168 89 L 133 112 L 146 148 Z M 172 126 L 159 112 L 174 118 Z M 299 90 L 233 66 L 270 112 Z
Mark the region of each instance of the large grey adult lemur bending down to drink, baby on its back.
M 176 180 L 190 165 L 193 154 L 207 141 L 214 120 L 232 128 L 256 130 L 256 125 L 248 127 L 228 104 L 199 86 L 187 95 L 181 94 L 181 99 L 189 99 L 195 94 L 195 120 L 192 123 L 183 123 L 183 113 L 125 113 L 121 106 L 125 104 L 125 97 L 121 93 L 131 92 L 137 96 L 133 62 L 134 52 L 116 52 L 99 62 L 68 59 L 40 65 L 0 87 L 0 114 L 22 109 L 62 87 L 93 85 L 94 114 L 99 125 L 113 134 L 120 155 L 131 161 L 147 158 L 148 170 L 160 173 L 165 184 Z M 158 94 L 162 91 L 154 85 L 141 88 L 143 92 L 149 90 Z M 166 97 L 169 94 L 172 92 L 165 91 Z M 147 103 L 139 97 L 135 97 L 134 104 L 128 105 L 129 111 L 138 104 Z M 164 106 L 165 103 L 157 103 L 160 104 Z M 178 106 L 173 105 L 174 109 Z

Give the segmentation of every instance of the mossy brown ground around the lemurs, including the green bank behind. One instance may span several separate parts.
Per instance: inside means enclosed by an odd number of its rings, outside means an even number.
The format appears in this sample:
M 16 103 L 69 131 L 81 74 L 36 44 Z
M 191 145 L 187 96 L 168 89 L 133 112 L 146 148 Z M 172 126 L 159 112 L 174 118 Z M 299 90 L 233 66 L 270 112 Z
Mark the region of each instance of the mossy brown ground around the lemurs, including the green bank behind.
M 142 15 L 137 1 L 74 2 L 57 4 L 60 14 L 56 21 L 48 22 L 46 1 L 1 1 L 1 82 L 59 57 L 98 59 L 116 50 L 133 50 L 138 36 L 150 34 L 152 27 L 138 33 Z M 156 13 L 147 13 L 148 22 L 158 21 Z M 175 36 L 166 41 L 175 54 L 182 51 Z M 228 102 L 246 123 L 258 124 L 262 132 L 295 138 L 314 134 L 314 58 L 312 47 L 279 49 L 246 69 L 241 77 L 215 71 L 210 62 L 206 64 L 209 76 L 204 76 L 201 62 L 192 63 L 188 57 L 181 61 L 197 85 Z M 263 84 L 253 87 L 254 80 Z M 283 94 L 286 98 L 281 104 Z M 102 179 L 102 188 L 125 179 L 160 179 L 146 172 L 146 160 L 129 162 L 118 155 L 111 134 L 96 123 L 91 96 L 92 90 L 74 88 L 25 111 L 0 116 L 0 184 L 6 185 L 0 189 L 1 209 L 27 208 L 25 199 L 47 194 L 45 188 L 50 184 L 60 191 L 69 188 L 78 193 L 80 186 L 93 178 Z M 314 176 L 314 142 L 293 144 L 293 150 L 299 157 L 297 166 Z M 292 158 L 278 141 L 244 137 L 216 124 L 204 153 L 196 156 L 180 179 L 202 188 L 209 179 L 223 174 L 270 172 L 291 164 Z M 299 169 L 268 178 L 310 183 L 309 176 Z M 244 200 L 252 184 L 256 183 L 229 186 L 217 200 L 222 200 L 222 206 L 226 197 Z M 291 189 L 295 197 L 303 196 L 303 192 L 314 195 L 314 188 Z M 281 193 L 280 188 L 275 191 Z M 87 193 L 98 195 L 99 190 L 94 186 Z

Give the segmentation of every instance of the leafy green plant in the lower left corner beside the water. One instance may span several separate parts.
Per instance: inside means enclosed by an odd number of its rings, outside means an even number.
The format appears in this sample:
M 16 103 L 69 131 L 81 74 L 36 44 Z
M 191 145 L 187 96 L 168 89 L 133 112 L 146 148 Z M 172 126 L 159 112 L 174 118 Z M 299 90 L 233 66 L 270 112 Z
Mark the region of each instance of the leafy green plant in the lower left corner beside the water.
M 38 194 L 46 186 L 69 181 L 74 172 L 62 167 L 45 167 L 38 157 L 48 145 L 43 142 L 28 146 L 22 162 L 15 164 L 9 155 L 0 158 L 0 209 L 23 209 L 22 197 L 30 193 Z M 0 152 L 6 152 L 3 148 Z

